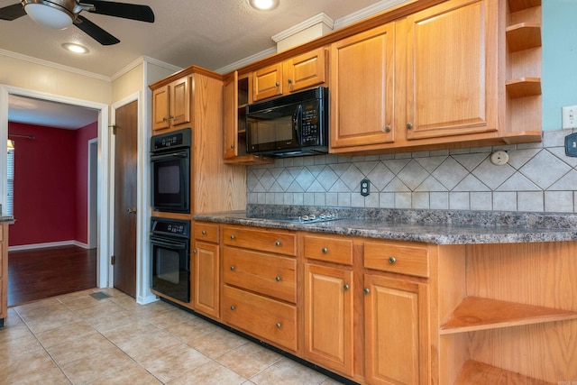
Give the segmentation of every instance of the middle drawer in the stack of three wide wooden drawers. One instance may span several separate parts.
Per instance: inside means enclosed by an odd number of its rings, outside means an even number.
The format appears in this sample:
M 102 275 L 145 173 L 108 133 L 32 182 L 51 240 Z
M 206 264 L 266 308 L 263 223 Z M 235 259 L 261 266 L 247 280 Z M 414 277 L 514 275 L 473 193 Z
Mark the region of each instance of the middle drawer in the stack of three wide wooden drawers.
M 297 260 L 224 247 L 224 283 L 269 297 L 297 302 Z

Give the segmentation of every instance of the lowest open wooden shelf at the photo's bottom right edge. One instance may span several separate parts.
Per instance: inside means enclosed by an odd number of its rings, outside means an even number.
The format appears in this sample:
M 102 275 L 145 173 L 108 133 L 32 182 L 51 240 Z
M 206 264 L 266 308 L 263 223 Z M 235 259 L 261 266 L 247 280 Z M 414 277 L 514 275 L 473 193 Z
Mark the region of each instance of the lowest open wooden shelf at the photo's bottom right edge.
M 482 362 L 469 360 L 463 363 L 454 385 L 552 385 L 551 382 L 536 380 L 513 371 L 496 368 Z

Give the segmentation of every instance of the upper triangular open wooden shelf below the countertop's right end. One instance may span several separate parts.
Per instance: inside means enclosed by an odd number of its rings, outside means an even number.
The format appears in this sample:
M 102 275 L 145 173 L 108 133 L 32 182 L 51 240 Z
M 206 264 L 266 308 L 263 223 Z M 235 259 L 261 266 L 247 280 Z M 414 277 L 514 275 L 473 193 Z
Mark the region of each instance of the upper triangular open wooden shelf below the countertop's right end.
M 441 325 L 439 334 L 449 335 L 567 319 L 577 319 L 577 312 L 490 298 L 467 297 L 454 309 L 449 320 Z

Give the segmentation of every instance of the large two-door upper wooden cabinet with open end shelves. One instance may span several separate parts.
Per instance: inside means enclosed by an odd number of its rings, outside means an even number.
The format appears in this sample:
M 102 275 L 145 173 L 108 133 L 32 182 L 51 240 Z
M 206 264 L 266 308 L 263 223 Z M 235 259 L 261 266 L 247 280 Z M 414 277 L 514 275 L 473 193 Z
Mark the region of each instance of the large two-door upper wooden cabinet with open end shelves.
M 334 41 L 330 151 L 539 142 L 534 4 L 451 0 Z

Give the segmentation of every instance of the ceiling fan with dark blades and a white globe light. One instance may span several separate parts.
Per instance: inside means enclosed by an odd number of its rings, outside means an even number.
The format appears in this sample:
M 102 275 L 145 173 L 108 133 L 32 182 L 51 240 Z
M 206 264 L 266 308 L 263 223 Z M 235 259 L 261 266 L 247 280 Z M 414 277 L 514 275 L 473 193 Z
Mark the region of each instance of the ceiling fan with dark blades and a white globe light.
M 59 30 L 68 28 L 74 23 L 102 45 L 120 42 L 95 23 L 81 16 L 82 11 L 154 23 L 154 14 L 148 5 L 101 0 L 87 0 L 87 3 L 80 3 L 79 0 L 22 0 L 20 3 L 0 8 L 0 19 L 12 21 L 28 14 L 36 23 Z

